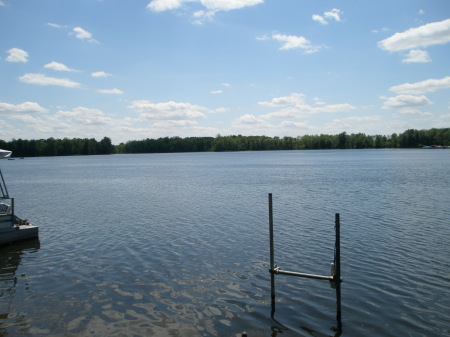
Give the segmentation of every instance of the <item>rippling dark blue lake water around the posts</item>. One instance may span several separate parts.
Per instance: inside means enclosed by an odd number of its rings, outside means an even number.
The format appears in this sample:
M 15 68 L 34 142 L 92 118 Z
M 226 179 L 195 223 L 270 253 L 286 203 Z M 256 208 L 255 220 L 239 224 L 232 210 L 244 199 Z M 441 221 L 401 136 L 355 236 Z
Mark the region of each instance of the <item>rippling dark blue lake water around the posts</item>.
M 0 162 L 40 240 L 0 248 L 0 336 L 449 336 L 450 151 Z M 341 218 L 342 332 L 328 281 Z

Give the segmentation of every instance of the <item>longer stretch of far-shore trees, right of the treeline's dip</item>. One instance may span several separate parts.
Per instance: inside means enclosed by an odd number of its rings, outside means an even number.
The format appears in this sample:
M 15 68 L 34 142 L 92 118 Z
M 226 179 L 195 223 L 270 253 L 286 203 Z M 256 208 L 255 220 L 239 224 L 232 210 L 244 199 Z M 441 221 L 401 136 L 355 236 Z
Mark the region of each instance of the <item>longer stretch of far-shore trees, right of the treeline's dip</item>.
M 450 145 L 450 128 L 414 130 L 390 136 L 364 133 L 305 135 L 298 137 L 221 136 L 164 137 L 133 140 L 116 147 L 118 153 L 166 153 L 203 151 L 265 151 L 319 149 L 417 148 L 424 145 Z

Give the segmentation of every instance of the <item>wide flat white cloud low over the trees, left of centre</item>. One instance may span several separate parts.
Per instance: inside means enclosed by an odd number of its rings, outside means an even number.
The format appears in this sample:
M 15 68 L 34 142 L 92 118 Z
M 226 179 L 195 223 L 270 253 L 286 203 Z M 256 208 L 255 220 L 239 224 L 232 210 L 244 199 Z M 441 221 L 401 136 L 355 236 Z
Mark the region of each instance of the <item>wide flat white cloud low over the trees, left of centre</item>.
M 197 119 L 205 118 L 208 108 L 191 103 L 162 102 L 152 103 L 147 100 L 134 101 L 129 108 L 140 113 L 141 119 Z

